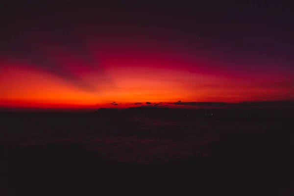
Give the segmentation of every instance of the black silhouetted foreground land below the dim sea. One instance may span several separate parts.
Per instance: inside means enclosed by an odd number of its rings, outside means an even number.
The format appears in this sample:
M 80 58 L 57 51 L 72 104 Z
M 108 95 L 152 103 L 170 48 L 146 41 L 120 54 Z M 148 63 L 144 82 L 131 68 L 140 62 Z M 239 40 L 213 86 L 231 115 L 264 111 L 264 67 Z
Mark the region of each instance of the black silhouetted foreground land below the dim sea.
M 31 122 L 42 119 L 37 116 L 30 118 Z M 30 134 L 29 127 L 53 128 L 48 121 L 48 126 L 38 126 L 38 122 L 29 126 L 28 119 L 24 122 L 16 120 L 19 124 L 15 127 L 23 126 Z M 113 121 L 111 119 L 103 121 Z M 6 118 L 3 124 L 9 123 L 8 120 Z M 168 162 L 149 164 L 107 159 L 99 151 L 91 150 L 81 143 L 12 145 L 4 143 L 5 134 L 1 133 L 1 195 L 290 196 L 294 194 L 294 129 L 289 119 L 288 123 L 281 122 L 271 124 L 267 131 L 221 131 L 218 139 L 210 142 L 204 153 L 186 159 L 174 158 Z M 117 125 L 113 125 L 112 130 L 123 125 L 118 119 L 113 124 Z M 184 128 L 181 127 L 183 132 Z M 83 130 L 87 129 L 84 127 Z M 123 130 L 113 131 L 108 137 L 133 134 L 132 131 Z M 15 137 L 21 132 L 11 131 Z M 171 134 L 161 133 L 156 137 L 163 139 L 176 136 L 174 131 Z M 191 131 L 185 134 L 192 137 Z M 177 137 L 183 137 L 183 133 L 178 133 Z M 133 148 L 135 150 L 136 147 Z M 132 153 L 131 148 L 128 151 Z

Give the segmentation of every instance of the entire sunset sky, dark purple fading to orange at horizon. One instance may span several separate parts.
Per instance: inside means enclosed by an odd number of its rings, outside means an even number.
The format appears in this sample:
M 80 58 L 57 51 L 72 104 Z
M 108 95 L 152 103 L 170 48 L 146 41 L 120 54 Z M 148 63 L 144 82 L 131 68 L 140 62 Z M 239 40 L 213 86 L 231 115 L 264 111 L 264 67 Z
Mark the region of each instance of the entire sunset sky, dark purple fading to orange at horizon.
M 294 100 L 293 4 L 49 2 L 0 8 L 0 107 Z

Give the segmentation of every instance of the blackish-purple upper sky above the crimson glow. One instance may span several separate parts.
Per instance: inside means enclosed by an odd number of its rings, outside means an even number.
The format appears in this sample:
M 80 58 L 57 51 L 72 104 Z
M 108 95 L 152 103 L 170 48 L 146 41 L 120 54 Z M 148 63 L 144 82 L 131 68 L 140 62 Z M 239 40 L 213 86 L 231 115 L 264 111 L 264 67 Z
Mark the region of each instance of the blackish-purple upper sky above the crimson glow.
M 205 49 L 217 50 L 223 58 L 223 53 L 229 53 L 230 58 L 275 56 L 277 61 L 294 62 L 290 1 L 9 2 L 1 6 L 0 42 L 4 52 L 15 46 L 24 30 L 49 32 L 77 50 L 74 30 L 114 37 L 139 32 L 150 39 L 155 35 L 176 38 L 175 42 L 186 42 L 192 48 L 194 42 L 199 45 L 200 38 L 203 53 Z

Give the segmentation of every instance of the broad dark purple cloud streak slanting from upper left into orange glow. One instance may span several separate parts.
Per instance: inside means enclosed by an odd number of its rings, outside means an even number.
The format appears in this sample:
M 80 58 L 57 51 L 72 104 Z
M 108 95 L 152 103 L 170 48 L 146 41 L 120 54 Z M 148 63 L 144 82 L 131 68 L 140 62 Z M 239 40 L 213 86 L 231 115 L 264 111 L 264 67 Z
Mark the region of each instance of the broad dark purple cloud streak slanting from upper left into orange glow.
M 26 67 L 61 77 L 84 91 L 98 90 L 85 81 L 76 69 L 68 69 L 74 67 L 72 61 L 78 60 L 82 63 L 77 67 L 79 71 L 98 73 L 103 75 L 103 80 L 107 77 L 97 58 L 85 47 L 85 40 L 75 34 L 79 26 L 71 27 L 61 12 L 53 7 L 50 10 L 46 5 L 31 9 L 24 4 L 11 9 L 17 9 L 18 14 L 1 28 L 0 55 L 17 59 Z M 69 57 L 70 61 L 60 60 L 60 57 Z

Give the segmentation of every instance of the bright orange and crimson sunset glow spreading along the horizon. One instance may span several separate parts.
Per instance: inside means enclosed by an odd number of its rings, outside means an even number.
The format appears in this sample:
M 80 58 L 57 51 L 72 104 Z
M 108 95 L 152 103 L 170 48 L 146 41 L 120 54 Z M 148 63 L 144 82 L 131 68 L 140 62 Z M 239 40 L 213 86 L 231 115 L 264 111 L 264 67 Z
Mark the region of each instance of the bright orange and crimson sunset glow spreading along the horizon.
M 66 78 L 38 69 L 38 65 L 2 60 L 0 106 L 97 108 L 114 107 L 110 105 L 113 101 L 118 103 L 116 107 L 128 107 L 134 102 L 146 101 L 239 102 L 294 98 L 293 83 L 287 83 L 287 78 L 281 83 L 281 79 L 272 77 L 270 80 L 269 76 L 246 79 L 245 75 L 234 77 L 234 73 L 230 73 L 232 77 L 227 77 L 222 73 L 207 73 L 201 65 L 189 69 L 195 62 L 181 58 L 132 55 L 133 58 L 115 53 L 100 57 L 103 73 L 85 71 L 82 65 L 72 64 L 75 62 L 73 57 L 59 58 L 68 72 L 94 87 L 94 91 L 79 88 Z

